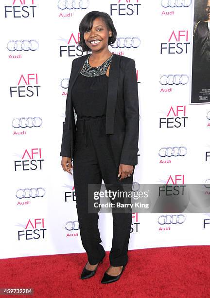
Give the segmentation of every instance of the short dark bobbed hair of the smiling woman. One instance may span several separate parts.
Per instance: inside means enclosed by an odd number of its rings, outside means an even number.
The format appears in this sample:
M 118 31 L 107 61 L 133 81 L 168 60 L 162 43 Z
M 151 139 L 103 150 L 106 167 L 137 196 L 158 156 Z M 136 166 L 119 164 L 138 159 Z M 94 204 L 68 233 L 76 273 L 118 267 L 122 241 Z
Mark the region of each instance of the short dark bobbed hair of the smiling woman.
M 90 11 L 87 15 L 85 15 L 85 17 L 81 20 L 79 24 L 80 41 L 78 45 L 82 47 L 84 52 L 91 51 L 85 43 L 84 33 L 86 32 L 86 30 L 90 30 L 92 28 L 93 21 L 96 18 L 102 18 L 105 21 L 108 30 L 110 29 L 112 32 L 112 36 L 108 38 L 108 45 L 113 44 L 117 38 L 117 31 L 114 27 L 113 21 L 110 18 L 110 16 L 102 11 Z

